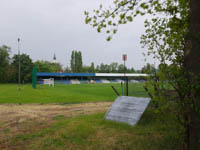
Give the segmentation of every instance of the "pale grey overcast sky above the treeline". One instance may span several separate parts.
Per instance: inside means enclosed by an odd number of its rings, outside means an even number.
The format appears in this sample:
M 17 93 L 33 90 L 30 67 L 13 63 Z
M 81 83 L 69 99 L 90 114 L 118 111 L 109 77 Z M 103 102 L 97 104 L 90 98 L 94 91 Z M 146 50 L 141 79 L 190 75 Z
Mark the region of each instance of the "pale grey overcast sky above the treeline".
M 84 23 L 84 10 L 92 11 L 99 4 L 112 0 L 0 0 L 0 45 L 17 53 L 17 38 L 21 51 L 33 61 L 52 61 L 54 53 L 63 67 L 70 65 L 72 50 L 82 52 L 83 64 L 123 63 L 127 54 L 128 67 L 140 69 L 146 62 L 140 45 L 144 18 L 122 25 L 110 42 L 106 34 Z M 154 63 L 149 59 L 150 63 Z

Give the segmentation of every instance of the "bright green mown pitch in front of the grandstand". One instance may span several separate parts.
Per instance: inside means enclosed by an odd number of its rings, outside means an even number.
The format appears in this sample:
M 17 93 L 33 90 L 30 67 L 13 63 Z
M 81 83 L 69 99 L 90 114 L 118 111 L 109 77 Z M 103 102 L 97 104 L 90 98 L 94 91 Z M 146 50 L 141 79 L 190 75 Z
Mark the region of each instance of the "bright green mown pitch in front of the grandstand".
M 77 84 L 62 85 L 55 87 L 39 85 L 32 89 L 30 84 L 22 85 L 18 91 L 17 84 L 0 84 L 0 103 L 82 103 L 97 101 L 113 101 L 117 96 L 111 85 L 119 91 L 120 84 Z M 133 96 L 147 96 L 143 84 L 134 84 Z M 138 95 L 137 93 L 140 92 Z M 142 94 L 141 94 L 142 93 Z

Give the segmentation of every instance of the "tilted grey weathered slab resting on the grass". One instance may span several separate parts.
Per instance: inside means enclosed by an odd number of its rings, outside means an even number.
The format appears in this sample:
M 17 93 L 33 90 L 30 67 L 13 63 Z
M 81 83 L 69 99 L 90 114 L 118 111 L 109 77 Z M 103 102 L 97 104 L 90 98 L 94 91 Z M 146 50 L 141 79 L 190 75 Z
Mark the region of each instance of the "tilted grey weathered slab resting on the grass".
M 150 102 L 150 98 L 119 96 L 105 115 L 107 120 L 135 125 Z

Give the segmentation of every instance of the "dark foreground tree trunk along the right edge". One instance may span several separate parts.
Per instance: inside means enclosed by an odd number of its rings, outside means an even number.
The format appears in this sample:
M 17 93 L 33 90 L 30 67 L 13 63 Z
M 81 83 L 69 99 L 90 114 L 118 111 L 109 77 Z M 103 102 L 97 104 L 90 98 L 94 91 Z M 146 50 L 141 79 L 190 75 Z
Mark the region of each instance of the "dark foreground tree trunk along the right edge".
M 200 0 L 189 0 L 190 17 L 189 33 L 186 39 L 185 65 L 186 69 L 193 73 L 194 76 L 200 77 Z M 194 105 L 200 109 L 200 93 L 196 95 Z M 190 139 L 189 149 L 200 150 L 200 115 L 190 109 Z

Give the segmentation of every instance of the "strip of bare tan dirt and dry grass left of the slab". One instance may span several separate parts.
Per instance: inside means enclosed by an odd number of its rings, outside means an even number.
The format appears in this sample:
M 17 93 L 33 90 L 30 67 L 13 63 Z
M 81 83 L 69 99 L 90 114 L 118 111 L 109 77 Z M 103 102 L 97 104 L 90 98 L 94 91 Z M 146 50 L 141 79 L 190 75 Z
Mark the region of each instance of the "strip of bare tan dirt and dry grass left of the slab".
M 9 138 L 48 127 L 54 117 L 106 112 L 112 102 L 82 104 L 4 104 L 0 105 L 0 149 Z

